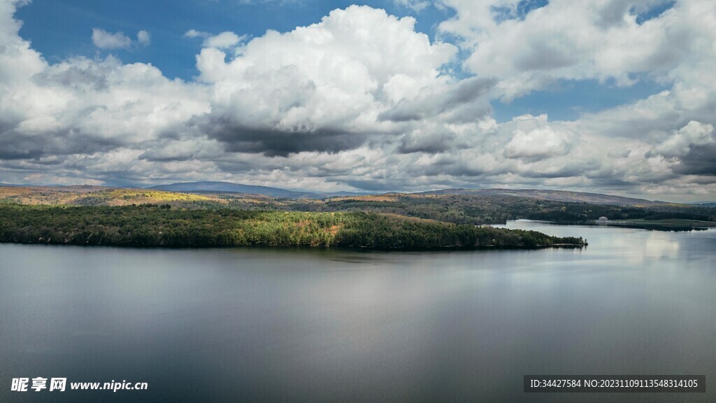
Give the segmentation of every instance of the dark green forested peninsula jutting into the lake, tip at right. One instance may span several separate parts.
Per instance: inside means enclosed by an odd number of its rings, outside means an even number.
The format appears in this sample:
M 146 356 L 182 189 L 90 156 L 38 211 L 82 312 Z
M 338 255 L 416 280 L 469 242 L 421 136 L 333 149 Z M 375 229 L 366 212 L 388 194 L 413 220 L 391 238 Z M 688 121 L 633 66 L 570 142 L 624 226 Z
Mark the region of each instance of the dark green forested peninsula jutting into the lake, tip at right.
M 576 237 L 373 212 L 0 204 L 0 242 L 128 247 L 337 246 L 384 250 L 583 247 Z

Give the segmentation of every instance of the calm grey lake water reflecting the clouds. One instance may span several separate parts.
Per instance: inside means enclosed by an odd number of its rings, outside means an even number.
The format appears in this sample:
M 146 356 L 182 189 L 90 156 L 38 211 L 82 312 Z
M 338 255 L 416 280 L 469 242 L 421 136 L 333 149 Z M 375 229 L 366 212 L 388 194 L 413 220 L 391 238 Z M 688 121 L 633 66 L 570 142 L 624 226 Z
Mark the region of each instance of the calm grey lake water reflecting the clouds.
M 0 245 L 0 402 L 713 402 L 716 231 L 508 227 L 586 250 Z M 524 394 L 705 374 L 706 394 Z M 147 391 L 10 392 L 14 377 Z

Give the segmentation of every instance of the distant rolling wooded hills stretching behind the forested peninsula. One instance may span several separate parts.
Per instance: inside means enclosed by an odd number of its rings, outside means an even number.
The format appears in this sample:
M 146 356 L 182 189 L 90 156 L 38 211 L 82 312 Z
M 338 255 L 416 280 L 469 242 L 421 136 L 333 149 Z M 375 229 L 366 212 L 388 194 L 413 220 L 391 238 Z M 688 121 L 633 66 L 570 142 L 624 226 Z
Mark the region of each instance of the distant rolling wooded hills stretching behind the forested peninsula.
M 227 189 L 222 186 L 216 187 Z M 181 189 L 182 186 L 178 187 Z M 232 186 L 229 187 L 238 189 Z M 266 191 L 266 189 L 276 189 L 267 188 L 266 186 L 253 187 L 263 187 L 264 189 L 246 189 L 244 187 L 243 190 Z M 184 189 L 187 189 L 187 187 Z M 196 188 L 188 186 L 188 189 Z M 468 194 L 459 194 L 458 192 L 460 191 L 468 192 Z M 650 203 L 642 199 L 579 192 L 510 190 L 508 191 L 510 194 L 503 194 L 505 191 L 507 190 L 464 191 L 448 189 L 446 191 L 433 191 L 422 194 L 359 194 L 324 198 L 314 194 L 301 198 L 289 198 L 232 191 L 163 191 L 158 189 L 107 188 L 102 186 L 14 186 L 0 187 L 0 203 L 75 206 L 170 204 L 171 207 L 182 209 L 373 212 L 471 225 L 504 224 L 506 220 L 520 218 L 559 222 L 593 222 L 602 216 L 610 220 L 716 220 L 716 211 L 714 209 L 699 205 Z M 490 192 L 497 195 L 490 194 Z M 281 194 L 285 195 L 286 193 Z M 562 201 L 561 199 L 564 198 L 579 201 Z M 582 199 L 589 199 L 590 201 L 581 201 Z M 614 204 L 607 204 L 607 201 L 612 201 Z M 634 204 L 616 204 L 618 201 Z

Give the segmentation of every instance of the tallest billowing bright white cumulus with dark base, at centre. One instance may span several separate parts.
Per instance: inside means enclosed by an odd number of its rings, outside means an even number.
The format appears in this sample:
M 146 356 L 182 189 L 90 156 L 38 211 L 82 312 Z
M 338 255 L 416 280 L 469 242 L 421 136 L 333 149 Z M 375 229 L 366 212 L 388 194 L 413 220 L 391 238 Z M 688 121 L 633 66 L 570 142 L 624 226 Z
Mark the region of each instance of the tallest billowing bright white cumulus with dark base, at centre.
M 233 151 L 281 155 L 336 152 L 372 134 L 395 134 L 399 124 L 378 115 L 415 102 L 421 92 L 450 97 L 456 85 L 440 72 L 455 47 L 431 44 L 414 26 L 410 17 L 350 6 L 309 27 L 269 31 L 228 61 L 225 52 L 207 47 L 197 67 L 214 89 L 213 109 L 199 123 Z M 432 113 L 478 95 L 457 93 Z

